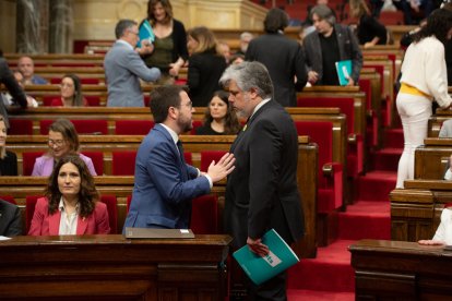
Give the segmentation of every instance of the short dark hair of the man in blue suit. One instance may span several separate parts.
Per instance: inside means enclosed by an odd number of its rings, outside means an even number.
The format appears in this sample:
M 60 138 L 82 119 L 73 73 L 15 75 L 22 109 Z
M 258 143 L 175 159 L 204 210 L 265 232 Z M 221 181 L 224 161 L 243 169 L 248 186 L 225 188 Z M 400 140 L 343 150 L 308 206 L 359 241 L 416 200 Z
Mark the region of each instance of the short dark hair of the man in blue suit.
M 177 85 L 158 86 L 151 91 L 151 112 L 155 123 L 162 123 L 168 117 L 170 107 L 180 108 L 180 93 L 183 87 Z

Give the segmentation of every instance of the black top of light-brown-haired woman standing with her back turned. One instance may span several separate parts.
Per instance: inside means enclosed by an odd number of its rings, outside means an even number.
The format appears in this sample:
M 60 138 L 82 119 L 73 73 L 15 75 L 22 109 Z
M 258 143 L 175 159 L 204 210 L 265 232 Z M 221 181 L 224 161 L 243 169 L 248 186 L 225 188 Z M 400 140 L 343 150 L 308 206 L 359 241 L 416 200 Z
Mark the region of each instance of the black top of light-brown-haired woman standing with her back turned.
M 225 58 L 213 52 L 194 53 L 189 58 L 187 85 L 193 107 L 209 105 L 214 92 L 219 89 L 218 80 L 225 69 Z

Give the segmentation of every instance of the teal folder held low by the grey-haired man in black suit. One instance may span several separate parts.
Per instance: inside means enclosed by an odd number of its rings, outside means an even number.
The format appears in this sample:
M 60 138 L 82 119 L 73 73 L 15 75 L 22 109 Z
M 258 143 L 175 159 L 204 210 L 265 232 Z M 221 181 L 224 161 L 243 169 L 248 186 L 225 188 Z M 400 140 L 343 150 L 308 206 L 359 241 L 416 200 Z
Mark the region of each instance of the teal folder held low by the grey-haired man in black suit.
M 266 256 L 259 256 L 248 245 L 233 254 L 255 285 L 265 282 L 299 262 L 298 256 L 274 229 L 262 237 L 262 243 L 269 246 L 270 252 Z

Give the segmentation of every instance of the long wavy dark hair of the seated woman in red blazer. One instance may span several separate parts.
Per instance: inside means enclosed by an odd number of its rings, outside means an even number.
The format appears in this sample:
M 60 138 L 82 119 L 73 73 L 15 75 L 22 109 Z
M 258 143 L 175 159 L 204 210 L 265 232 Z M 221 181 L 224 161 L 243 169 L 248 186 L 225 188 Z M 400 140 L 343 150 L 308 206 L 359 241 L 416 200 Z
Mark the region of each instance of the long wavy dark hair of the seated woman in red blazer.
M 96 202 L 99 198 L 99 193 L 94 185 L 94 178 L 91 176 L 86 164 L 80 158 L 78 154 L 69 154 L 62 157 L 53 167 L 53 171 L 49 177 L 45 195 L 49 200 L 49 214 L 55 214 L 58 210 L 58 205 L 61 198 L 61 192 L 58 186 L 58 174 L 61 167 L 67 164 L 73 164 L 80 173 L 80 191 L 79 191 L 79 215 L 81 217 L 88 217 L 96 207 Z

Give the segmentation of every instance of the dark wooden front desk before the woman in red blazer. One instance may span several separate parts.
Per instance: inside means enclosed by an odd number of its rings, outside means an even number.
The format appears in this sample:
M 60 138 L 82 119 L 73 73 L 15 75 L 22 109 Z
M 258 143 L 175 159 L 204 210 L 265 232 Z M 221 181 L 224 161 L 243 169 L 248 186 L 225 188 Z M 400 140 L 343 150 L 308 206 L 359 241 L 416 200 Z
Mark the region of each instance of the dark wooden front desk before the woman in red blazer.
M 0 242 L 0 299 L 222 300 L 230 241 L 16 237 Z

